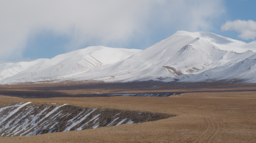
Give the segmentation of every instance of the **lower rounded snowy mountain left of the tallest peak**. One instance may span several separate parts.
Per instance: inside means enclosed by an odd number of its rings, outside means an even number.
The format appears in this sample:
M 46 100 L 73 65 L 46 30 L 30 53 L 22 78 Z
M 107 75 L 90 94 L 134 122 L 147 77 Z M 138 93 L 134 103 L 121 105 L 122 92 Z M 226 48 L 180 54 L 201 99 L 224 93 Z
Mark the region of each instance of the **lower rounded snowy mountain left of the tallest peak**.
M 4 80 L 31 81 L 70 77 L 91 68 L 124 60 L 139 51 L 141 50 L 103 46 L 87 47 L 39 62 Z

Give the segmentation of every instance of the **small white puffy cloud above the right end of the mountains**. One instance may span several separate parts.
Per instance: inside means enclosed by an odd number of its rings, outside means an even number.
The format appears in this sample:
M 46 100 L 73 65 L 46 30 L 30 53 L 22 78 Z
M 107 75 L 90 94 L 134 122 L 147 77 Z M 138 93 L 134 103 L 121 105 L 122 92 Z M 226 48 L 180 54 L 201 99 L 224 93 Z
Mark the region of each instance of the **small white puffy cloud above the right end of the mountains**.
M 240 33 L 239 38 L 249 40 L 256 37 L 256 22 L 253 20 L 227 21 L 221 26 L 222 31 L 234 30 Z

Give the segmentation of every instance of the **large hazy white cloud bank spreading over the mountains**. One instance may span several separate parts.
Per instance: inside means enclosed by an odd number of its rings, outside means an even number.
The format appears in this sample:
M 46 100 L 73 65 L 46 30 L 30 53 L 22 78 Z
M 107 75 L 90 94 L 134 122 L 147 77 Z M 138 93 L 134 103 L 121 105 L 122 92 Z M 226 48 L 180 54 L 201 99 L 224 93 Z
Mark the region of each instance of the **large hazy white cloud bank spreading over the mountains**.
M 45 30 L 70 37 L 72 50 L 121 45 L 158 29 L 211 29 L 224 9 L 222 0 L 0 1 L 0 60 L 22 57 L 28 38 Z

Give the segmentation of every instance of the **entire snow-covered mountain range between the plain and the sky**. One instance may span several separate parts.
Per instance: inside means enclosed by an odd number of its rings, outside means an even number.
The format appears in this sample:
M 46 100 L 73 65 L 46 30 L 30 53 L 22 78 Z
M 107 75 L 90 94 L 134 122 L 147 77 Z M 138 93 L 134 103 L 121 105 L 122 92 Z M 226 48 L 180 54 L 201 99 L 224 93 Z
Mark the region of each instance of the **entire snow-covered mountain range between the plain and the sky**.
M 1 83 L 86 80 L 256 82 L 256 42 L 178 31 L 145 50 L 88 47 L 52 59 L 0 64 Z

